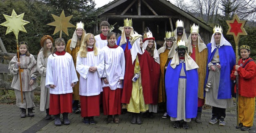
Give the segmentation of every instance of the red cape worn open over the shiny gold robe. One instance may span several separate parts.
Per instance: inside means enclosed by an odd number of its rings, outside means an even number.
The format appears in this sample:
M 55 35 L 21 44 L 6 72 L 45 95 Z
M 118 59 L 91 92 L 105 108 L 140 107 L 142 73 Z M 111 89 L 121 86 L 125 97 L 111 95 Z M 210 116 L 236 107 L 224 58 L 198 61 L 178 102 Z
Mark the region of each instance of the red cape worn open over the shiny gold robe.
M 138 54 L 138 59 L 140 63 L 140 74 L 141 82 L 143 89 L 143 96 L 145 104 L 153 103 L 152 99 L 152 89 L 150 81 L 150 72 L 151 72 L 151 62 L 150 55 L 147 51 L 144 54 Z M 132 64 L 132 55 L 130 50 L 125 53 L 125 74 L 124 74 L 124 87 L 122 92 L 122 103 L 130 103 L 130 98 L 132 95 L 132 77 L 134 75 L 135 60 Z

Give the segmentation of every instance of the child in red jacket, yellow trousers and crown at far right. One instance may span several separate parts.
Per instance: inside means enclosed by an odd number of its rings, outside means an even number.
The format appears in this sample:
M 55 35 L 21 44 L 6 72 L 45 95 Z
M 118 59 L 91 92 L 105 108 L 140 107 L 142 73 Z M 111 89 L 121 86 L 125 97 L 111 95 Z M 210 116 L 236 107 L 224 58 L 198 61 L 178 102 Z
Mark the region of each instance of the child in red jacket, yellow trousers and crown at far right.
M 256 64 L 250 55 L 250 46 L 240 46 L 242 58 L 232 69 L 230 77 L 236 80 L 238 75 L 238 107 L 239 107 L 239 125 L 236 129 L 248 131 L 253 125 L 254 107 L 256 96 Z M 237 84 L 236 84 L 237 85 Z M 235 86 L 236 92 L 236 86 Z

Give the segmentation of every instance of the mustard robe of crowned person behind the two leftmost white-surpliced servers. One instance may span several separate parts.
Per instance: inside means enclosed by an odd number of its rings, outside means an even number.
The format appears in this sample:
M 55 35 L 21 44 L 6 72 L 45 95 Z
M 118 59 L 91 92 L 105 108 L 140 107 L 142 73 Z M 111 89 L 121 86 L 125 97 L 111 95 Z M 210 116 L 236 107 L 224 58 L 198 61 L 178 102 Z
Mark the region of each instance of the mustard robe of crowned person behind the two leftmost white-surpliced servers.
M 66 46 L 66 52 L 68 52 L 74 61 L 74 66 L 76 68 L 76 53 L 79 51 L 80 46 L 76 46 L 75 48 L 72 49 L 72 51 L 70 50 L 70 44 L 71 44 L 71 39 L 68 40 L 67 46 Z M 78 80 L 80 78 L 80 74 L 76 71 L 76 75 L 78 77 Z M 73 95 L 72 95 L 72 99 L 73 100 L 80 100 L 80 96 L 79 96 L 79 81 L 77 81 L 75 87 L 73 87 Z

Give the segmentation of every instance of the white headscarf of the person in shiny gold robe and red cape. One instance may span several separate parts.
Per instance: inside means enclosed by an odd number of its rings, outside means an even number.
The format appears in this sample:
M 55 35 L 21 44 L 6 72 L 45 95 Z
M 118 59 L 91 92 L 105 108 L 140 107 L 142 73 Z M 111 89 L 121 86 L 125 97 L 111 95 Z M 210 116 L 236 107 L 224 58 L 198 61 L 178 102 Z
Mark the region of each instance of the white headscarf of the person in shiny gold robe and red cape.
M 142 38 L 142 37 L 141 37 Z M 137 38 L 131 48 L 131 55 L 132 55 L 132 64 L 134 60 L 136 59 L 137 54 L 143 54 L 145 50 L 143 48 L 140 48 L 140 38 Z

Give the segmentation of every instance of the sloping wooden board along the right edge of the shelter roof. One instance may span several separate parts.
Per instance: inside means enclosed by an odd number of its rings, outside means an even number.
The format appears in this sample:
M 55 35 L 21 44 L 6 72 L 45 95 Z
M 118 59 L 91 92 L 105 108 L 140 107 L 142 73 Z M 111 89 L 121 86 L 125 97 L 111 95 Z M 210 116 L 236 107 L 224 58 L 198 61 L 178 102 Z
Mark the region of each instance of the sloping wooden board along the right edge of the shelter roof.
M 170 2 L 168 2 L 167 0 L 159 0 L 160 2 L 162 2 L 163 4 L 165 4 L 166 6 L 172 8 L 173 10 L 175 10 L 176 12 L 178 12 L 179 14 L 181 14 L 182 16 L 190 19 L 191 21 L 195 22 L 196 24 L 200 25 L 202 28 L 208 30 L 209 32 L 212 32 L 212 28 L 210 26 L 208 26 L 207 24 L 205 24 L 204 22 L 196 19 L 194 16 L 188 14 L 187 12 L 181 10 L 180 8 L 178 8 L 177 6 L 174 6 L 173 4 L 171 4 Z

